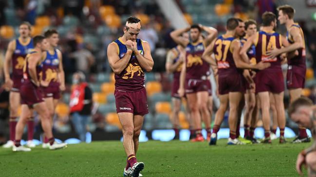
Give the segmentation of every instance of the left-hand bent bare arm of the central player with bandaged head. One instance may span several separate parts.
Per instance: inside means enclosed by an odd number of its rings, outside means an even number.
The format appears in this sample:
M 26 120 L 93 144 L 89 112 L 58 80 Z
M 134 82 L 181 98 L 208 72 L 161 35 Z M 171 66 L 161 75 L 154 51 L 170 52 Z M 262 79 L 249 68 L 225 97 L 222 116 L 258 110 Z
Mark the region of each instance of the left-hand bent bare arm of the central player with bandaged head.
M 130 57 L 132 54 L 132 49 L 128 48 L 127 52 L 125 53 L 125 56 L 120 59 L 118 57 L 118 51 L 117 51 L 117 45 L 112 42 L 108 46 L 107 54 L 108 54 L 108 60 L 109 64 L 115 74 L 120 74 L 123 69 L 126 67 L 126 65 L 130 61 Z

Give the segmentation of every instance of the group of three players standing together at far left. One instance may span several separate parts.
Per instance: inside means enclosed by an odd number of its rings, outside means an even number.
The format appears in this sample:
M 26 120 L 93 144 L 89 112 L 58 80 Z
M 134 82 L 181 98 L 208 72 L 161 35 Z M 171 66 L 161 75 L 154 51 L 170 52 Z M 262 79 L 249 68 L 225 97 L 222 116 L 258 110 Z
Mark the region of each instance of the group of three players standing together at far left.
M 56 49 L 59 37 L 56 30 L 48 30 L 44 35 L 30 36 L 31 25 L 19 25 L 19 38 L 9 43 L 4 63 L 5 87 L 10 90 L 10 140 L 3 145 L 13 151 L 31 151 L 33 143 L 33 110 L 39 115 L 43 134 L 43 148 L 59 149 L 67 144 L 55 142 L 53 116 L 65 90 L 61 52 Z M 12 75 L 10 76 L 10 65 Z M 21 104 L 21 114 L 18 108 Z M 28 124 L 27 146 L 20 141 L 24 126 Z

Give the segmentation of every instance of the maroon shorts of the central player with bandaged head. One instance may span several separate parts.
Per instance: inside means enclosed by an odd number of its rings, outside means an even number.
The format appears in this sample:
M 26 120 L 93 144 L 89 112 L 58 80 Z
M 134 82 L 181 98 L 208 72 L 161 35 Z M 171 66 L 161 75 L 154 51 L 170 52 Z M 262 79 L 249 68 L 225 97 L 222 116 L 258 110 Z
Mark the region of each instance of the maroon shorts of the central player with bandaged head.
M 115 90 L 115 105 L 117 113 L 133 113 L 145 115 L 148 113 L 146 89 L 137 92 Z

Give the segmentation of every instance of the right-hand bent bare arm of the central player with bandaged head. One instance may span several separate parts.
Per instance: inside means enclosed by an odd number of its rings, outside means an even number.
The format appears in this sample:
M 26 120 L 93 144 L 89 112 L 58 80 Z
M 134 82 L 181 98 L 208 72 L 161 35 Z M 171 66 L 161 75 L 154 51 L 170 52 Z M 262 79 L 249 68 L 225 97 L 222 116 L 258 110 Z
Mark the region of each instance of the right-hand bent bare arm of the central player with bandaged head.
M 134 43 L 134 54 L 139 62 L 139 65 L 144 68 L 147 72 L 150 72 L 153 67 L 153 59 L 151 57 L 151 52 L 150 52 L 150 46 L 148 42 L 143 41 L 143 48 L 144 48 L 144 56 L 139 53 L 136 47 L 136 43 Z

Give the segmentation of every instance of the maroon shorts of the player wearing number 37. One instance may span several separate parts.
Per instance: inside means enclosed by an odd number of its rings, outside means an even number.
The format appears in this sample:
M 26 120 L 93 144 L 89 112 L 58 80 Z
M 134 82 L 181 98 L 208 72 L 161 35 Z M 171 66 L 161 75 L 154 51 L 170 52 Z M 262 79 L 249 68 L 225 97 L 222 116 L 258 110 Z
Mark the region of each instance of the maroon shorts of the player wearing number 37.
M 220 95 L 228 94 L 229 92 L 245 92 L 245 84 L 242 74 L 230 74 L 218 76 L 218 92 Z

